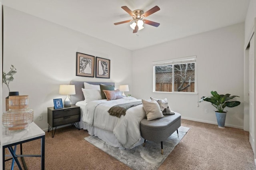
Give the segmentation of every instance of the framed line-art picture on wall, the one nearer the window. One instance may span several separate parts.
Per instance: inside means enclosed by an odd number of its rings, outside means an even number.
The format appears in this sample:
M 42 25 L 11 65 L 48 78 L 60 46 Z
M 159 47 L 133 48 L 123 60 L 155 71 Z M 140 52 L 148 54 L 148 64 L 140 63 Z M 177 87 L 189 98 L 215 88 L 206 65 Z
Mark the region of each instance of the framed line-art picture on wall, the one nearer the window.
M 97 78 L 110 79 L 110 59 L 96 57 L 95 74 Z

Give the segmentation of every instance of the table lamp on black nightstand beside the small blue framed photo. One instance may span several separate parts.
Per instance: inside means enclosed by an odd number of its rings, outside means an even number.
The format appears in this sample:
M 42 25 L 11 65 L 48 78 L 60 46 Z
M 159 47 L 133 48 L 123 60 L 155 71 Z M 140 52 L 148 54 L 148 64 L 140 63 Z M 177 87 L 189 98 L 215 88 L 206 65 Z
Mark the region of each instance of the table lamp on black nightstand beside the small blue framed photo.
M 63 101 L 64 107 L 71 107 L 71 100 L 68 95 L 75 95 L 76 89 L 75 85 L 60 85 L 60 95 L 67 95 L 66 99 Z

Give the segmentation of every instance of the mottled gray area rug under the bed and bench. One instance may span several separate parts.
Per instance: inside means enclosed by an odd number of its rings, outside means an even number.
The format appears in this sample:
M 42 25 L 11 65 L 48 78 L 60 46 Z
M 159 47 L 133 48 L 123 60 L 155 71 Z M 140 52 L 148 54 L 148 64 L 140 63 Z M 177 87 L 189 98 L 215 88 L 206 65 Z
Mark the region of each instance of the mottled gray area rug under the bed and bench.
M 178 128 L 179 137 L 175 131 L 167 140 L 163 141 L 163 155 L 160 142 L 147 140 L 145 147 L 141 144 L 129 150 L 120 150 L 106 144 L 96 136 L 88 136 L 84 139 L 134 170 L 157 170 L 188 130 L 188 127 L 180 127 Z

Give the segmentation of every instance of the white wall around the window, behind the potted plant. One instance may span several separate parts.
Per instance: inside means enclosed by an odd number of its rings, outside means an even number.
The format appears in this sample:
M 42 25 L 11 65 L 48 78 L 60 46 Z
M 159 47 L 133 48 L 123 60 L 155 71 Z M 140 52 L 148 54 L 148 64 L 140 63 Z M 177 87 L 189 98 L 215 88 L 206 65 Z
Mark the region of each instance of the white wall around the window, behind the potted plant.
M 183 119 L 216 124 L 214 107 L 203 102 L 210 91 L 230 93 L 241 105 L 228 108 L 226 126 L 243 128 L 244 23 L 133 51 L 133 94 L 142 99 L 167 98 Z M 198 95 L 153 93 L 153 61 L 197 56 Z M 204 113 L 208 109 L 208 113 Z

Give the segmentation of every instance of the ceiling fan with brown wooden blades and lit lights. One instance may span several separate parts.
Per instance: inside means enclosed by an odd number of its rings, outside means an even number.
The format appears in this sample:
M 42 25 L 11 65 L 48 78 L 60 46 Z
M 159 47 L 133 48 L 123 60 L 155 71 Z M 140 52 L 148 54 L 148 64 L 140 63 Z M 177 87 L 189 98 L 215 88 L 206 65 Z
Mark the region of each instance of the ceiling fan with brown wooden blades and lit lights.
M 154 14 L 155 12 L 159 11 L 160 8 L 158 6 L 154 6 L 153 8 L 148 10 L 147 12 L 144 12 L 142 10 L 131 11 L 127 6 L 122 6 L 121 8 L 123 10 L 125 10 L 128 14 L 130 14 L 130 16 L 132 16 L 132 20 L 116 22 L 116 23 L 114 23 L 114 25 L 124 24 L 124 23 L 127 23 L 127 22 L 133 22 L 132 24 L 130 24 L 130 27 L 133 29 L 133 33 L 138 32 L 138 30 L 142 30 L 144 28 L 143 27 L 144 23 L 148 24 L 148 25 L 151 25 L 151 26 L 154 26 L 154 27 L 158 27 L 160 25 L 157 22 L 153 22 L 153 21 L 144 19 L 147 16 L 150 16 L 151 14 Z

